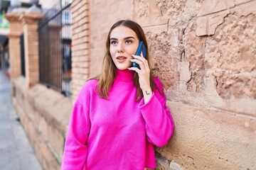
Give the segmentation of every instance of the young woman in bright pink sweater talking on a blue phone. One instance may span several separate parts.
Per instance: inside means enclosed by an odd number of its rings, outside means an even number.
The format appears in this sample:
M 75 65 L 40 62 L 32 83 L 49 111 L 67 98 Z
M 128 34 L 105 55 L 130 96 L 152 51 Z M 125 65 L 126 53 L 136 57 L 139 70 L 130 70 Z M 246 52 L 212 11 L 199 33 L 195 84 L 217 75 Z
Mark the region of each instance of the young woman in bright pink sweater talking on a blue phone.
M 102 72 L 75 101 L 61 169 L 156 167 L 154 145 L 166 145 L 174 121 L 161 82 L 151 75 L 149 55 L 134 55 L 141 40 L 148 49 L 134 21 L 118 21 L 110 29 Z

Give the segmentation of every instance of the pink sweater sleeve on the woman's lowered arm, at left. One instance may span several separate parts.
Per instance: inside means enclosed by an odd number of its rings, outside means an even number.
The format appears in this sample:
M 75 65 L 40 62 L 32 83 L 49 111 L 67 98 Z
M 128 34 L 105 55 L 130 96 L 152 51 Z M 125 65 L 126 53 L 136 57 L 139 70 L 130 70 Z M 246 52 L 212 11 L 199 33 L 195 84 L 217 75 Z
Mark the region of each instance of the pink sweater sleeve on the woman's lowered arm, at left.
M 90 132 L 90 120 L 87 115 L 87 109 L 76 101 L 66 135 L 62 170 L 85 169 L 87 159 L 86 142 Z

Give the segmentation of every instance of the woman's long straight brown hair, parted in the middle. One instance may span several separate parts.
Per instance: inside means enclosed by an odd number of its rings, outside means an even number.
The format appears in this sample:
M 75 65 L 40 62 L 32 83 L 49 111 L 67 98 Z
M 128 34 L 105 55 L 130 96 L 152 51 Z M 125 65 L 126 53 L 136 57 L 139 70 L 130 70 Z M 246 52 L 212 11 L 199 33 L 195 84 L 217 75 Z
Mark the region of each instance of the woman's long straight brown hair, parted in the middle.
M 112 33 L 112 30 L 114 28 L 117 28 L 118 26 L 125 26 L 127 28 L 132 29 L 139 39 L 139 41 L 144 41 L 144 45 L 146 46 L 146 60 L 149 62 L 149 51 L 148 51 L 148 45 L 146 42 L 146 36 L 144 34 L 144 31 L 142 30 L 142 27 L 139 26 L 138 23 L 135 23 L 134 21 L 130 20 L 121 20 L 117 21 L 117 23 L 114 23 L 114 25 L 110 28 L 110 31 L 107 35 L 107 42 L 106 42 L 106 48 L 107 52 L 105 54 L 105 57 L 103 59 L 103 65 L 102 65 L 102 72 L 97 77 L 91 78 L 91 79 L 99 79 L 97 83 L 97 91 L 100 97 L 102 98 L 108 98 L 107 94 L 110 91 L 110 87 L 114 83 L 114 79 L 117 77 L 117 67 L 115 66 L 112 57 L 110 55 L 110 34 Z M 149 66 L 150 67 L 150 66 Z M 139 76 L 138 74 L 134 74 L 134 85 L 137 89 L 137 98 L 136 101 L 139 101 L 140 98 L 142 98 L 142 89 L 140 89 L 139 86 Z M 150 73 L 150 86 L 151 89 L 154 90 L 155 88 L 164 96 L 163 92 L 159 90 L 159 88 L 156 86 L 153 80 L 153 76 Z

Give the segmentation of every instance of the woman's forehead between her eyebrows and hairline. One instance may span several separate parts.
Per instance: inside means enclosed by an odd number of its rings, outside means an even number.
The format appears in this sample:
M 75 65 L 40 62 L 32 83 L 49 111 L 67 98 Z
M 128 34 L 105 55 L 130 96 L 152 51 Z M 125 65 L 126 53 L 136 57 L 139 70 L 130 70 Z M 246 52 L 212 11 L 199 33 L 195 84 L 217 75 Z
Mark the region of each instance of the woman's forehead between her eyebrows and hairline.
M 137 34 L 131 28 L 126 26 L 118 26 L 112 30 L 110 38 L 127 38 L 127 37 L 137 38 Z

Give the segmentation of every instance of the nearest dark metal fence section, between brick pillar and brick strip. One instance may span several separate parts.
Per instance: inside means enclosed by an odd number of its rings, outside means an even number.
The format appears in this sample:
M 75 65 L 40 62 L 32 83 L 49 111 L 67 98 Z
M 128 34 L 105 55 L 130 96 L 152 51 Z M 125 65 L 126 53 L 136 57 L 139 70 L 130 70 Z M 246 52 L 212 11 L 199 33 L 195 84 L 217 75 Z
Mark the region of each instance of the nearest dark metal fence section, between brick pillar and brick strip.
M 39 21 L 39 80 L 71 96 L 71 2 L 57 1 Z

